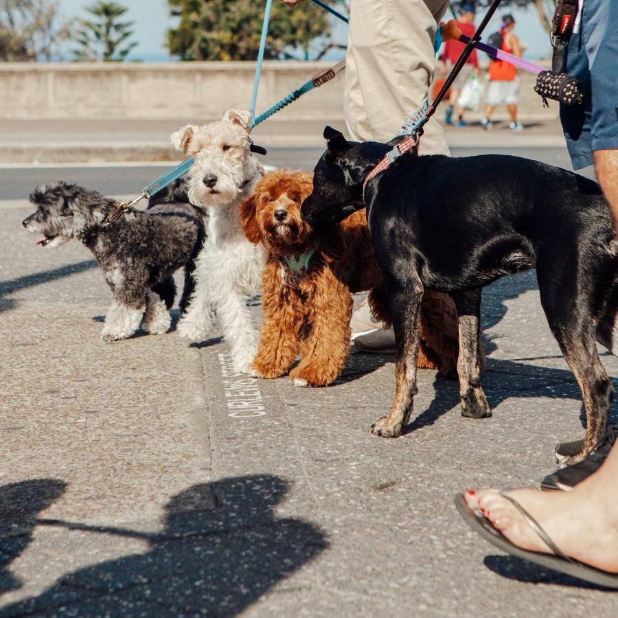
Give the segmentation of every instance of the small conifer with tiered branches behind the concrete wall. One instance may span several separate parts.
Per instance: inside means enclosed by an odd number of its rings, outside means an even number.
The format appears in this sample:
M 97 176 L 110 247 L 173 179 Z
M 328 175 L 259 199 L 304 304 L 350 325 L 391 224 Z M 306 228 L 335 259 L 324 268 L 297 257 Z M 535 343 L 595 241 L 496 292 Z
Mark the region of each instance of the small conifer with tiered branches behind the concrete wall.
M 100 1 L 86 10 L 92 17 L 80 21 L 76 41 L 79 47 L 73 50 L 76 60 L 126 60 L 137 45 L 128 41 L 133 36 L 135 21 L 119 21 L 128 8 L 116 2 Z

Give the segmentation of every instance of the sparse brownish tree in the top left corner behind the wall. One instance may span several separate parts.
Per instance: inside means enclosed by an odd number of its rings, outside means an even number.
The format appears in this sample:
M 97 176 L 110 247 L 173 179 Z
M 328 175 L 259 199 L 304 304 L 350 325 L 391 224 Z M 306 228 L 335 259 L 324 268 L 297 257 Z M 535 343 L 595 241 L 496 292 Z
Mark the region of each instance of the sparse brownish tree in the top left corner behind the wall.
M 58 1 L 0 0 L 0 60 L 51 60 L 69 36 Z

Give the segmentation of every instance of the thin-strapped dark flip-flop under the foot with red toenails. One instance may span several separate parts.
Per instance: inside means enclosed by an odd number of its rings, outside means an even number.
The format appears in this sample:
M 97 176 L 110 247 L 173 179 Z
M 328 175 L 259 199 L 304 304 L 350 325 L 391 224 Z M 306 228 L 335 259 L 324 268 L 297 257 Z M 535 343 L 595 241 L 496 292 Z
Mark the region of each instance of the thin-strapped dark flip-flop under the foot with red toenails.
M 549 538 L 547 532 L 545 532 L 545 530 L 538 525 L 538 522 L 525 511 L 523 506 L 520 505 L 520 503 L 518 503 L 513 496 L 505 493 L 501 493 L 501 496 L 504 496 L 505 499 L 510 501 L 510 503 L 516 507 L 529 526 L 536 532 L 536 534 L 538 534 L 538 536 L 540 536 L 547 547 L 553 551 L 553 556 L 549 553 L 527 551 L 526 549 L 521 549 L 520 547 L 514 545 L 501 533 L 501 531 L 499 531 L 499 529 L 494 527 L 491 521 L 480 511 L 472 510 L 468 506 L 464 494 L 457 494 L 457 496 L 455 496 L 455 506 L 457 507 L 459 514 L 464 518 L 464 520 L 466 520 L 472 530 L 480 534 L 492 545 L 502 551 L 505 551 L 506 553 L 509 553 L 511 556 L 523 558 L 524 560 L 538 564 L 540 567 L 558 571 L 558 573 L 578 577 L 580 580 L 584 580 L 585 582 L 591 582 L 606 588 L 618 589 L 618 573 L 608 573 L 608 571 L 595 569 L 595 567 L 590 567 L 588 564 L 569 558 L 569 556 L 566 556 L 562 551 L 560 551 L 560 548 L 556 546 L 556 543 Z

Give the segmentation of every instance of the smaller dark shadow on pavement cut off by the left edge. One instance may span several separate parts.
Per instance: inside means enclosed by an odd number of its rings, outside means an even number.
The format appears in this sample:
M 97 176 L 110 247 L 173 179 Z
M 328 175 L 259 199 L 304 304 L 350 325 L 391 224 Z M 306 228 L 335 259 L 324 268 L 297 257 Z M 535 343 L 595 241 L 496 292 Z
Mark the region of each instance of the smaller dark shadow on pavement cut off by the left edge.
M 21 582 L 8 571 L 8 565 L 32 541 L 36 516 L 64 494 L 67 483 L 56 479 L 33 479 L 0 487 L 0 595 Z

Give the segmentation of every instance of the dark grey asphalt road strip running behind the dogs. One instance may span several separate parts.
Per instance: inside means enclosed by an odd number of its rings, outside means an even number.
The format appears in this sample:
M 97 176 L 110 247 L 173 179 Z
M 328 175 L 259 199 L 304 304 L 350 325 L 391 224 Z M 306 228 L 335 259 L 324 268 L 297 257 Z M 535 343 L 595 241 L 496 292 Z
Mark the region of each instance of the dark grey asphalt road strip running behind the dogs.
M 453 148 L 452 150 L 453 156 L 456 157 L 490 152 L 488 148 Z M 261 160 L 276 167 L 312 170 L 322 152 L 321 148 L 271 148 L 268 155 Z M 538 161 L 551 163 L 551 165 L 571 169 L 566 148 L 493 148 L 492 152 L 538 159 Z M 171 163 L 137 166 L 117 164 L 108 167 L 33 165 L 24 168 L 3 168 L 0 166 L 0 200 L 27 198 L 39 183 L 57 180 L 76 182 L 109 195 L 139 194 L 139 191 L 172 167 Z M 589 170 L 588 174 L 590 174 Z

